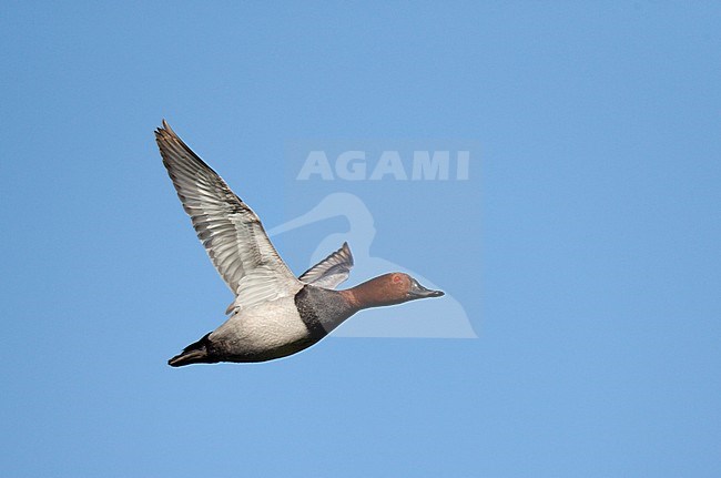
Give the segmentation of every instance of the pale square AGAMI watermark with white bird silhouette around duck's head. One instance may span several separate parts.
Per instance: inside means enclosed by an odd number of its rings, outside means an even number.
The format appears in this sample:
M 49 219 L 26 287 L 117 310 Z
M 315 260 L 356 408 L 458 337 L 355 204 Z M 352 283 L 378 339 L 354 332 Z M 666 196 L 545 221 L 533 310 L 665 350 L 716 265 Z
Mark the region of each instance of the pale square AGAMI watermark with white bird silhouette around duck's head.
M 288 144 L 286 155 L 284 203 L 291 218 L 268 235 L 286 258 L 296 261 L 298 272 L 347 242 L 355 265 L 338 288 L 405 272 L 446 293 L 364 311 L 333 336 L 477 337 L 478 295 L 464 295 L 480 269 L 479 241 L 474 240 L 480 234 L 477 144 L 298 141 Z M 414 253 L 405 254 L 409 248 Z

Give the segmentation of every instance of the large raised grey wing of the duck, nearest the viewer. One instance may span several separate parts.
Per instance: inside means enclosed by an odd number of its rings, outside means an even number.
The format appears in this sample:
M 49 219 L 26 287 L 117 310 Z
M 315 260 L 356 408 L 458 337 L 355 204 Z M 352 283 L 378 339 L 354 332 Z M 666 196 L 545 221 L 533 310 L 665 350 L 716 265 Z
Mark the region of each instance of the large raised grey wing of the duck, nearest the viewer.
M 302 284 L 278 256 L 261 220 L 163 120 L 155 131 L 163 164 L 235 306 L 295 294 Z

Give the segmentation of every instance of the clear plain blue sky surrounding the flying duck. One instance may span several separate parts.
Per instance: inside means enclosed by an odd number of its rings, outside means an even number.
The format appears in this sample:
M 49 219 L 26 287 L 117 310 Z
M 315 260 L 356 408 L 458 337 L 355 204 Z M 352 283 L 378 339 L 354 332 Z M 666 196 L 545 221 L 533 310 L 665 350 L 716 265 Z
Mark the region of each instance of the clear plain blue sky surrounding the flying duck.
M 6 3 L 3 472 L 718 476 L 720 21 L 712 2 Z M 370 255 L 443 286 L 478 338 L 170 368 L 232 297 L 162 118 L 268 227 L 360 197 Z M 476 146 L 465 182 L 352 185 L 295 181 L 298 144 L 368 164 Z M 278 248 L 301 273 L 347 227 Z

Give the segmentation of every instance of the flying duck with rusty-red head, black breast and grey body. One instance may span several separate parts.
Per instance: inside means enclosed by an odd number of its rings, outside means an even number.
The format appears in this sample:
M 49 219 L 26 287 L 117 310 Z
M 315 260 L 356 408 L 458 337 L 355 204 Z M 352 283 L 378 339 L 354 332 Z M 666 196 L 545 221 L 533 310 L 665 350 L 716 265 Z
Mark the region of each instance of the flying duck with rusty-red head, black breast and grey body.
M 197 237 L 235 295 L 227 321 L 185 347 L 169 365 L 285 357 L 317 343 L 364 308 L 444 295 L 398 272 L 336 291 L 353 267 L 347 243 L 296 278 L 257 215 L 165 120 L 155 130 L 155 140 Z

